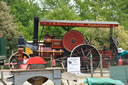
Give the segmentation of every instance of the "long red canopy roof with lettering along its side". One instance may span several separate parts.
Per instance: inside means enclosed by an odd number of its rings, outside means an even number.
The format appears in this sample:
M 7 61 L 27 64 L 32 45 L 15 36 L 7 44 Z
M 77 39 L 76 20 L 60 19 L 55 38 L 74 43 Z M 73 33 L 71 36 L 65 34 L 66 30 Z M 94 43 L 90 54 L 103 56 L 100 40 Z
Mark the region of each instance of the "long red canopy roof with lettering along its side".
M 97 22 L 97 21 L 64 21 L 64 20 L 42 20 L 42 26 L 68 26 L 68 27 L 118 27 L 117 22 Z

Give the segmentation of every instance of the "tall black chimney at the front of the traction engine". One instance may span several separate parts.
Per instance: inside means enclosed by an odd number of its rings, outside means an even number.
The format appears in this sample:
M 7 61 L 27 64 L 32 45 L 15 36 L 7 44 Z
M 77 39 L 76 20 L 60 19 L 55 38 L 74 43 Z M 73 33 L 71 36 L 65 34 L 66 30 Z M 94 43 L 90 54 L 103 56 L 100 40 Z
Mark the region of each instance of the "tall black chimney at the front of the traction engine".
M 39 18 L 34 17 L 34 35 L 33 35 L 33 44 L 37 45 L 38 44 L 38 23 L 39 23 Z

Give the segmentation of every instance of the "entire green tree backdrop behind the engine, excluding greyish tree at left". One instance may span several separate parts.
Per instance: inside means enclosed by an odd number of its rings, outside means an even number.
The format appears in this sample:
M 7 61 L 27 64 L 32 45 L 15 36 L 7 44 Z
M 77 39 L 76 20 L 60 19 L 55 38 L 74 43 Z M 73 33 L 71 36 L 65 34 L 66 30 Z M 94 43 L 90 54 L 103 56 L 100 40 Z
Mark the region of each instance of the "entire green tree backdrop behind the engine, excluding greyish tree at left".
M 26 40 L 33 38 L 33 17 L 39 16 L 40 19 L 50 20 L 90 20 L 90 21 L 117 21 L 121 26 L 115 35 L 119 40 L 119 46 L 127 45 L 128 37 L 128 0 L 4 0 L 11 8 L 18 30 L 22 32 Z M 87 29 L 87 28 L 56 28 L 45 27 L 46 31 L 56 36 L 63 36 L 67 29 L 79 30 L 83 35 L 89 36 L 97 48 L 102 48 L 107 44 L 109 29 Z M 122 31 L 123 30 L 123 31 Z M 116 33 L 117 32 L 117 33 Z M 39 36 L 41 35 L 41 27 Z M 121 34 L 122 33 L 122 34 Z M 123 39 L 123 40 L 122 40 Z M 125 40 L 124 40 L 125 39 Z M 121 41 L 122 40 L 122 41 Z M 127 46 L 124 47 L 125 49 Z

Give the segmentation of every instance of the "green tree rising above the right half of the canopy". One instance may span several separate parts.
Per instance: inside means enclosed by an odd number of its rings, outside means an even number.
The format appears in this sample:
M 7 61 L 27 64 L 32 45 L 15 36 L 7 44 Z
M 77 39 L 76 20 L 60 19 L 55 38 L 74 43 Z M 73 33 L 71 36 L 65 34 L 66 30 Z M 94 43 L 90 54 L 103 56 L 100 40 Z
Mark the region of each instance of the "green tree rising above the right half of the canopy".
M 128 0 L 74 0 L 74 9 L 83 20 L 117 21 L 127 28 Z

